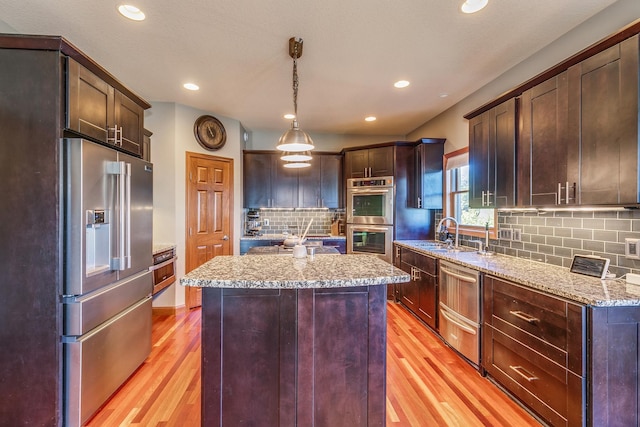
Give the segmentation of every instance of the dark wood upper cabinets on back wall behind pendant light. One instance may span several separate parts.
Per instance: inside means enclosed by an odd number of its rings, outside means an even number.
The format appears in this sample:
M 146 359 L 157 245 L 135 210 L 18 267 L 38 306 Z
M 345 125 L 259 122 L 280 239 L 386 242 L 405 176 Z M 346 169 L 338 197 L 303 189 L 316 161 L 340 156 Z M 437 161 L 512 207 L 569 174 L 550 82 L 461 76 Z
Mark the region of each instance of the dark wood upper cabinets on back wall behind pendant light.
M 279 152 L 244 152 L 247 208 L 342 207 L 342 156 L 314 153 L 311 167 L 287 169 Z

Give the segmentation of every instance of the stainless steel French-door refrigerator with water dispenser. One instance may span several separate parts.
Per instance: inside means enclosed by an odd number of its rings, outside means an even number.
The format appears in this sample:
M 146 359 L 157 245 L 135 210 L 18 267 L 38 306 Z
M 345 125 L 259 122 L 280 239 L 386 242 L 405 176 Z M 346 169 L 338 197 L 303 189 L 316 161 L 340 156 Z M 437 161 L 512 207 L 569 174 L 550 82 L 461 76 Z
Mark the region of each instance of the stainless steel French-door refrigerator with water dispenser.
M 79 426 L 151 351 L 153 168 L 63 139 L 64 417 Z

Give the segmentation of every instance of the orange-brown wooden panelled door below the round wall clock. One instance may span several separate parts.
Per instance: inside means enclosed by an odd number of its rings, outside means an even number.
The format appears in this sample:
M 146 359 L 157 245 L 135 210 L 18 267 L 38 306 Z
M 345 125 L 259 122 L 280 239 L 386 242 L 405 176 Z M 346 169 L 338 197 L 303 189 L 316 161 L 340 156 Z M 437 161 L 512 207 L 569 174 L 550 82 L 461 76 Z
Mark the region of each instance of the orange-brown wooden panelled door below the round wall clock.
M 186 272 L 233 254 L 233 159 L 187 153 Z M 202 289 L 185 288 L 187 308 L 202 305 Z

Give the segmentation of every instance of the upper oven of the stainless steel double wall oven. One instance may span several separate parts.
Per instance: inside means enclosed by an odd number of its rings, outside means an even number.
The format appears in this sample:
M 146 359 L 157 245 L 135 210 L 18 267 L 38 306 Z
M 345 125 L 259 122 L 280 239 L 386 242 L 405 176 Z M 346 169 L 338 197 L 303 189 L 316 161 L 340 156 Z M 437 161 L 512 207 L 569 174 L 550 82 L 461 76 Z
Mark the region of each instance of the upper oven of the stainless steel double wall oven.
M 347 224 L 393 225 L 393 177 L 347 180 Z

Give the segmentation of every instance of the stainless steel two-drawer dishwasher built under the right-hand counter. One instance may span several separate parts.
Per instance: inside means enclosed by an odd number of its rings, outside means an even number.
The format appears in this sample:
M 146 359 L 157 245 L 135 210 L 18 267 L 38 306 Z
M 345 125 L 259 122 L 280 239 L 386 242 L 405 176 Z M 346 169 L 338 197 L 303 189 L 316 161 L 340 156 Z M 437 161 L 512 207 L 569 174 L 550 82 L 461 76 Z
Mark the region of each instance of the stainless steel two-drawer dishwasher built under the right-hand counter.
M 440 263 L 440 335 L 471 363 L 480 365 L 480 274 Z

